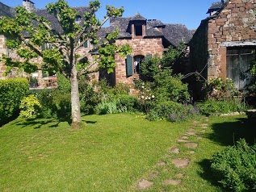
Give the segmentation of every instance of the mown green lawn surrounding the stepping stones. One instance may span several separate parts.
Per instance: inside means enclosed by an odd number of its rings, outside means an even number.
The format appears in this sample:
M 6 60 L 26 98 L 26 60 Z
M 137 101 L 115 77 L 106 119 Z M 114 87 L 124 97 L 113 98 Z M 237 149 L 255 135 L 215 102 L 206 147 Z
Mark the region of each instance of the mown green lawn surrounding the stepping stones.
M 183 123 L 149 122 L 139 115 L 90 115 L 81 130 L 56 119 L 16 119 L 0 128 L 0 191 L 135 191 L 136 184 L 157 171 L 148 191 L 221 191 L 209 170 L 212 153 L 233 144 L 244 132 L 255 140 L 245 116 L 211 117 L 194 154 L 177 140 L 206 123 L 198 117 Z M 252 131 L 252 132 L 250 132 Z M 254 135 L 253 135 L 254 134 Z M 181 148 L 172 155 L 172 147 Z M 191 164 L 174 168 L 173 157 Z M 164 161 L 163 167 L 156 166 Z M 180 186 L 162 182 L 184 174 Z

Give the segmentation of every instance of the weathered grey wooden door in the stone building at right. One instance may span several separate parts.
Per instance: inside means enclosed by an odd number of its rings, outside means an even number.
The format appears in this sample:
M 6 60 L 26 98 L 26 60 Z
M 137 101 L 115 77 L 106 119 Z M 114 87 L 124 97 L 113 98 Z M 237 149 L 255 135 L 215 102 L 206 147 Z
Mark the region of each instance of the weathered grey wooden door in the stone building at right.
M 247 72 L 253 58 L 253 47 L 232 47 L 227 48 L 226 77 L 233 80 L 238 90 L 243 90 L 250 81 Z

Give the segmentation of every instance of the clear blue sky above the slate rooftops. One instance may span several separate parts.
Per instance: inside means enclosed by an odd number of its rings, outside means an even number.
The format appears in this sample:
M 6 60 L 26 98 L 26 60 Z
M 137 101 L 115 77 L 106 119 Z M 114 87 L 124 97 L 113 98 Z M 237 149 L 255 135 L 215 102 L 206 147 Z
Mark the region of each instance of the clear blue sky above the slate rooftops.
M 31 0 L 36 8 L 44 8 L 50 2 L 57 0 Z M 0 0 L 7 6 L 21 6 L 22 0 Z M 66 0 L 69 6 L 87 6 L 89 0 Z M 202 19 L 208 17 L 206 12 L 212 2 L 220 0 L 100 0 L 102 8 L 99 10 L 99 18 L 106 13 L 105 6 L 124 6 L 124 17 L 130 17 L 140 13 L 145 19 L 159 19 L 162 23 L 182 23 L 189 29 L 196 29 Z

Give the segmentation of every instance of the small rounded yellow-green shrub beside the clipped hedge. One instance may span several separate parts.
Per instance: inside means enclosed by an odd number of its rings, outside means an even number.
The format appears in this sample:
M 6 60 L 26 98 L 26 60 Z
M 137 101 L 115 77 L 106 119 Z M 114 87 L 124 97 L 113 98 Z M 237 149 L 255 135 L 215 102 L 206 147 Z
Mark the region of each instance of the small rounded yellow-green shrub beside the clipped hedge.
M 38 98 L 31 94 L 21 100 L 19 116 L 22 118 L 36 118 L 40 115 L 40 107 L 41 105 Z

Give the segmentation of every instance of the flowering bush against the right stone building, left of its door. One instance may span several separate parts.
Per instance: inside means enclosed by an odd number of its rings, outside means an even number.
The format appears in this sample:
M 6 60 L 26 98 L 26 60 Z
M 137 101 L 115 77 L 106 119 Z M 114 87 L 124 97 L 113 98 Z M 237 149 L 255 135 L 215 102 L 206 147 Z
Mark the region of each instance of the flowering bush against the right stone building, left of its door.
M 233 86 L 233 81 L 229 78 L 225 80 L 221 77 L 210 79 L 206 82 L 205 87 L 208 92 L 208 98 L 230 98 L 238 94 L 237 89 Z

